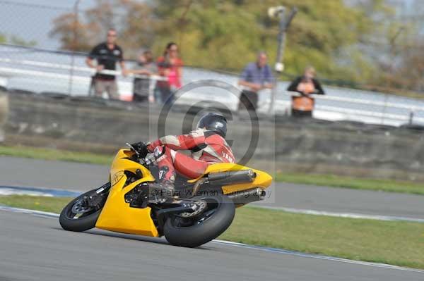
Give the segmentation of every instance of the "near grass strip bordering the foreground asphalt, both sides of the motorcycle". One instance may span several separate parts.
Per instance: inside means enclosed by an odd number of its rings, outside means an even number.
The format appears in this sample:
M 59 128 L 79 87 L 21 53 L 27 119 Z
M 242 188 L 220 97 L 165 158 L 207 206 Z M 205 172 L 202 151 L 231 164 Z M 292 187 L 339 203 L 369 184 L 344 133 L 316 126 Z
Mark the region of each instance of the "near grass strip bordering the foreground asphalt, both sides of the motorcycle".
M 0 204 L 59 213 L 69 198 L 0 196 Z M 359 261 L 424 268 L 424 224 L 238 208 L 219 239 Z

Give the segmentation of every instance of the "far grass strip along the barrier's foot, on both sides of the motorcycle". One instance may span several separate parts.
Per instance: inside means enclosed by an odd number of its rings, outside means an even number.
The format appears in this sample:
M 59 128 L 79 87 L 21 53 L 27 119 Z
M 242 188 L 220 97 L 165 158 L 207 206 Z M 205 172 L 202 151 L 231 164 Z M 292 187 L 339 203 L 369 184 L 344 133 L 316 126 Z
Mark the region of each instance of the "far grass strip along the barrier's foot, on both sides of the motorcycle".
M 86 152 L 64 151 L 58 149 L 40 149 L 28 146 L 0 146 L 0 156 L 16 156 L 39 158 L 57 161 L 71 161 L 110 165 L 113 156 L 91 154 Z M 417 182 L 401 182 L 396 180 L 375 180 L 344 177 L 338 175 L 314 175 L 296 173 L 278 173 L 277 182 L 293 182 L 304 185 L 322 185 L 327 187 L 344 187 L 352 189 L 382 190 L 424 195 L 424 184 Z

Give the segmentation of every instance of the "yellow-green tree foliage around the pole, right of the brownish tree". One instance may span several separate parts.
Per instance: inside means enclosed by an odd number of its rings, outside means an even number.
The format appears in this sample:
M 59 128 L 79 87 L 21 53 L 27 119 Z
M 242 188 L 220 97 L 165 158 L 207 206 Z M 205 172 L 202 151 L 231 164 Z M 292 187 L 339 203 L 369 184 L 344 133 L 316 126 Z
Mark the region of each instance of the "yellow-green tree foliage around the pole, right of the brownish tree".
M 192 2 L 184 21 L 180 16 Z M 161 19 L 154 49 L 177 40 L 189 65 L 240 71 L 257 51 L 275 59 L 278 20 L 270 19 L 270 6 L 298 7 L 287 36 L 286 71 L 301 73 L 314 65 L 320 75 L 333 80 L 363 81 L 377 71 L 372 61 L 358 50 L 358 42 L 379 30 L 376 15 L 391 10 L 384 1 L 369 1 L 370 7 L 347 6 L 343 0 L 285 1 L 157 1 L 155 13 Z

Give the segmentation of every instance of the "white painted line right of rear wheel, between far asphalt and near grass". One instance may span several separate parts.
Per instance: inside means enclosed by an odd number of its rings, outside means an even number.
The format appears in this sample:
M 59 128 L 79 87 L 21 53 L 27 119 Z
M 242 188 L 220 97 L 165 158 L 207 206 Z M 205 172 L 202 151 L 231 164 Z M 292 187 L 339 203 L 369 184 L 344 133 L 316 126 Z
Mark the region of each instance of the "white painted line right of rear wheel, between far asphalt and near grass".
M 285 208 L 285 207 L 272 207 L 272 206 L 259 206 L 259 205 L 254 205 L 250 207 L 267 208 L 271 210 L 285 211 L 288 213 L 303 213 L 305 215 L 314 215 L 314 216 L 330 216 L 330 217 L 337 217 L 337 218 L 365 218 L 367 220 L 408 221 L 411 223 L 424 223 L 424 218 L 365 215 L 362 213 L 336 213 L 336 212 L 329 212 L 329 211 L 317 211 L 317 210 L 307 210 L 307 209 L 299 209 L 299 208 Z

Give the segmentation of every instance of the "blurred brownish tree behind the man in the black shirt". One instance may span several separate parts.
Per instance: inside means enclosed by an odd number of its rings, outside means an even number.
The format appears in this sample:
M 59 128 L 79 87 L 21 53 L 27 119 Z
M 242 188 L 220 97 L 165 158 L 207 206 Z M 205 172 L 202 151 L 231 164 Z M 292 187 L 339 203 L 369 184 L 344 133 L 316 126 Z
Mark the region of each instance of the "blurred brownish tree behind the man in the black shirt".
M 65 13 L 55 18 L 49 35 L 59 38 L 61 49 L 89 51 L 105 41 L 107 30 L 113 27 L 126 54 L 134 55 L 141 46 L 150 45 L 151 16 L 150 7 L 136 0 L 96 0 L 94 8 L 82 15 Z

